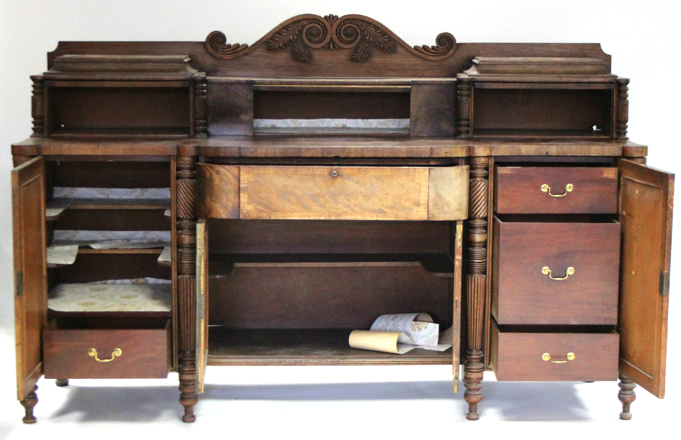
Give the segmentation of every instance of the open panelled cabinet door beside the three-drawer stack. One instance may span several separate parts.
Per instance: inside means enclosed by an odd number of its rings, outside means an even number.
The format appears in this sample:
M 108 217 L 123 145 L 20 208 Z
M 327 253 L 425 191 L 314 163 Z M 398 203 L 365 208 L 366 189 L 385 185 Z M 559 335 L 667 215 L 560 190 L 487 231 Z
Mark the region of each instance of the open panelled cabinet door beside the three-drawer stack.
M 620 373 L 665 396 L 674 174 L 618 160 L 620 175 Z

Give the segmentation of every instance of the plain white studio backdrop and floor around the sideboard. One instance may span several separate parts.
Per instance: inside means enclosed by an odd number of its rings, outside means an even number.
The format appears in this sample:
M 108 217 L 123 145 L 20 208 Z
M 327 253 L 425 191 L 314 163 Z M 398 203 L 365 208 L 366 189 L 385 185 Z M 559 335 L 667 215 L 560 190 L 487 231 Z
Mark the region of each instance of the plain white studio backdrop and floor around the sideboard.
M 46 70 L 46 52 L 60 40 L 203 41 L 215 30 L 223 31 L 229 43 L 252 44 L 291 16 L 330 13 L 369 16 L 411 45 L 432 45 L 436 35 L 445 31 L 459 42 L 600 42 L 612 55 L 612 72 L 631 78 L 630 139 L 650 147 L 648 165 L 681 171 L 678 1 L 2 0 L 0 439 L 106 438 L 114 435 L 113 427 L 116 437 L 133 439 L 178 433 L 178 429 L 253 439 L 275 435 L 399 439 L 418 433 L 456 437 L 477 429 L 511 437 L 544 433 L 588 438 L 631 435 L 651 426 L 660 433 L 660 428 L 672 426 L 674 409 L 681 407 L 681 386 L 674 374 L 681 360 L 678 245 L 671 261 L 667 398 L 660 401 L 639 389 L 630 422 L 617 418 L 614 382 L 496 383 L 488 374 L 479 405 L 481 420 L 466 422 L 462 394 L 454 395 L 446 386 L 451 377 L 447 367 L 212 367 L 207 380 L 215 384 L 214 391 L 207 387 L 193 425 L 178 421 L 176 375 L 166 381 L 72 381 L 76 385 L 71 390 L 42 381 L 35 409 L 38 424 L 20 424 L 22 407 L 14 391 L 10 144 L 31 132 L 29 75 Z M 93 389 L 92 384 L 106 388 Z M 131 384 L 141 388 L 129 391 Z M 509 423 L 513 420 L 524 422 Z

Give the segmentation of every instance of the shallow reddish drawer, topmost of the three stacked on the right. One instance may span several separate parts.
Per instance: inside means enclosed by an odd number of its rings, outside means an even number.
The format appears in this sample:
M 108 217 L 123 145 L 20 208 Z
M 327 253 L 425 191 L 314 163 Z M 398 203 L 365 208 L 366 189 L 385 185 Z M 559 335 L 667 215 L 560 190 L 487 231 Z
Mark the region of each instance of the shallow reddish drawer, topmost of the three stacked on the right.
M 614 214 L 617 168 L 496 167 L 499 214 Z

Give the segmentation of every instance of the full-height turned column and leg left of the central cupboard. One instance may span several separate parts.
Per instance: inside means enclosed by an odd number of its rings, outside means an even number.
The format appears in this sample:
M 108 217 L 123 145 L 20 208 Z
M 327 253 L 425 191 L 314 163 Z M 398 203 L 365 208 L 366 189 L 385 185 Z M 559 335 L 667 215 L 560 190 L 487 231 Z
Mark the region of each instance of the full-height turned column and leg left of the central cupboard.
M 180 403 L 193 422 L 196 394 L 196 158 L 177 157 L 177 273 L 180 311 Z

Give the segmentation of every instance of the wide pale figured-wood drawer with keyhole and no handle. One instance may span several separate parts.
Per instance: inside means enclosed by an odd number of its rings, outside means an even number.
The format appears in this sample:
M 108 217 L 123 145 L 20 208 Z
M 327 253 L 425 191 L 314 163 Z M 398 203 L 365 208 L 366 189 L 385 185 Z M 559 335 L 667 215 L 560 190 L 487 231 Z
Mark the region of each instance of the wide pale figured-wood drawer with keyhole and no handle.
M 204 218 L 463 220 L 469 167 L 197 164 Z

